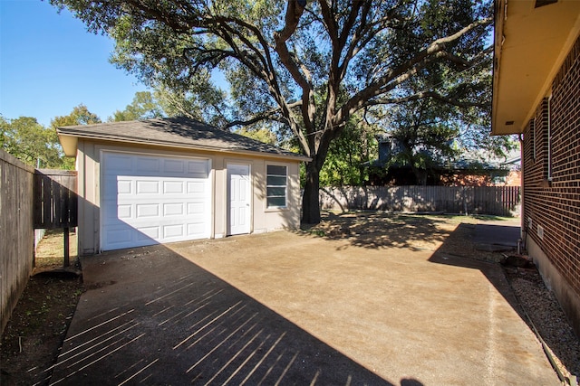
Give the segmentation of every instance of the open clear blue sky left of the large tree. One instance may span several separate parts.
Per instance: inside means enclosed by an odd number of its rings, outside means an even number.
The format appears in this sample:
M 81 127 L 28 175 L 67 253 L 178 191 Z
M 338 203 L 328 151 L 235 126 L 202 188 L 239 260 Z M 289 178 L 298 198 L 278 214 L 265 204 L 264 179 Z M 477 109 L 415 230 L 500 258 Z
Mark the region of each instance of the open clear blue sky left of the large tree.
M 146 89 L 109 62 L 113 42 L 40 0 L 0 0 L 0 114 L 44 126 L 84 104 L 102 120 Z

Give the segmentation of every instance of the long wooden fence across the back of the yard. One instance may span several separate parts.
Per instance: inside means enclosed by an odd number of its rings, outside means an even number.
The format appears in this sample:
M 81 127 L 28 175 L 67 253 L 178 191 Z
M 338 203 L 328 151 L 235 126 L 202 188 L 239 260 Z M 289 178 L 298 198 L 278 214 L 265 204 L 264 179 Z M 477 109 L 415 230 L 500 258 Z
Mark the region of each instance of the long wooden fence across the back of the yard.
M 519 216 L 519 186 L 342 186 L 321 188 L 324 210 Z

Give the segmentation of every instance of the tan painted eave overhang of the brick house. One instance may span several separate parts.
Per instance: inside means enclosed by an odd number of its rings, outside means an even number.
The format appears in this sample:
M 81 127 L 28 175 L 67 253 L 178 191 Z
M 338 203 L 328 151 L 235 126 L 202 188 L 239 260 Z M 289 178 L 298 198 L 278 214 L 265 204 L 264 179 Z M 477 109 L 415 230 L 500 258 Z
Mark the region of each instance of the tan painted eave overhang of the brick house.
M 496 0 L 492 134 L 522 133 L 580 33 L 578 0 Z

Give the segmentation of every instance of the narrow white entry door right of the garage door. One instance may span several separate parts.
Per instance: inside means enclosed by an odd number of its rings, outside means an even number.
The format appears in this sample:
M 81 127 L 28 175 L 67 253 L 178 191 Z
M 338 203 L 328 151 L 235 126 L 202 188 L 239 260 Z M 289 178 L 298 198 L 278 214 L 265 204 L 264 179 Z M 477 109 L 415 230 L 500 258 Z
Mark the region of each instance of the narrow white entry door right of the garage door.
M 227 165 L 227 234 L 250 232 L 251 184 L 249 165 Z

